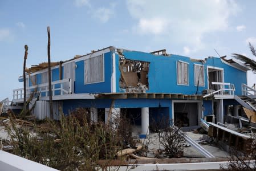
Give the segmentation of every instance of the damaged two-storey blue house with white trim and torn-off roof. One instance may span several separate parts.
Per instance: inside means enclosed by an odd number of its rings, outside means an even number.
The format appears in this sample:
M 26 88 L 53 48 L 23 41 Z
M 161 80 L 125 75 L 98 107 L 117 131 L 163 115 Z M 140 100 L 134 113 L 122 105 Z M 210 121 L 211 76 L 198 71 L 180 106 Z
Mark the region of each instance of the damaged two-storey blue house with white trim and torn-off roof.
M 224 123 L 226 115 L 241 115 L 242 107 L 255 109 L 246 102 L 255 95 L 247 86 L 250 69 L 225 56 L 198 60 L 165 50 L 148 53 L 107 47 L 51 65 L 56 119 L 60 112 L 68 115 L 80 107 L 89 109 L 93 121 L 125 115 L 132 124 L 141 125 L 144 137 L 152 119 L 168 117 L 193 127 L 207 115 Z M 47 63 L 27 72 L 27 97 L 40 92 L 34 99 L 34 114 L 39 119 L 48 117 Z M 14 89 L 12 103 L 22 102 L 23 88 Z

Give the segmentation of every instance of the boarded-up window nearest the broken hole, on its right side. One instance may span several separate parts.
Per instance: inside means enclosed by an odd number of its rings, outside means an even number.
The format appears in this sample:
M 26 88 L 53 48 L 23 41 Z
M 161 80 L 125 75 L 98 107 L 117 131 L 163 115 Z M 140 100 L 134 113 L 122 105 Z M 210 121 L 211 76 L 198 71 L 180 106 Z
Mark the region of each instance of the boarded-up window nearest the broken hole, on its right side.
M 189 85 L 188 63 L 177 61 L 177 84 Z

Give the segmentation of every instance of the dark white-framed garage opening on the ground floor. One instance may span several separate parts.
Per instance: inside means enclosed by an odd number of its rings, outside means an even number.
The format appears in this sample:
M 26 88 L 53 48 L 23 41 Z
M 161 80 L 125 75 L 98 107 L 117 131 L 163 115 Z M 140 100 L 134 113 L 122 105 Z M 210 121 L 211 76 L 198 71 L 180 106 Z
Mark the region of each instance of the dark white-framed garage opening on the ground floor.
M 181 127 L 198 125 L 198 103 L 174 103 L 174 123 Z

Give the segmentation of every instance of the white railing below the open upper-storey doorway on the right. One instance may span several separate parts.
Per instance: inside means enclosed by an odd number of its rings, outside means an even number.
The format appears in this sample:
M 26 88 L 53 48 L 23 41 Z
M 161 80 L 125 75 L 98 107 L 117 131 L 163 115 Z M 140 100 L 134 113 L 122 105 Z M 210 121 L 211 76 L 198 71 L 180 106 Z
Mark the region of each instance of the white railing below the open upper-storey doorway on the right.
M 208 95 L 205 95 L 205 97 L 211 96 L 211 95 L 219 95 L 221 96 L 234 96 L 235 95 L 235 86 L 231 83 L 222 83 L 222 82 L 212 82 L 213 85 L 216 85 L 217 90 L 209 93 Z

